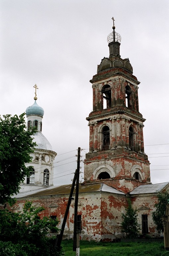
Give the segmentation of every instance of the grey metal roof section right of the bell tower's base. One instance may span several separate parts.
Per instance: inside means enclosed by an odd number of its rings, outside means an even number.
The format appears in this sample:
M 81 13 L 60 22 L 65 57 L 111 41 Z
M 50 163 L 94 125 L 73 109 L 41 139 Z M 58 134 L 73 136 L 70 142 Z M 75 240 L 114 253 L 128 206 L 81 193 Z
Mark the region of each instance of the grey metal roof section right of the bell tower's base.
M 169 185 L 169 182 L 141 185 L 141 186 L 135 188 L 129 194 L 136 195 L 136 194 L 158 193 L 158 192 L 162 191 L 167 185 Z

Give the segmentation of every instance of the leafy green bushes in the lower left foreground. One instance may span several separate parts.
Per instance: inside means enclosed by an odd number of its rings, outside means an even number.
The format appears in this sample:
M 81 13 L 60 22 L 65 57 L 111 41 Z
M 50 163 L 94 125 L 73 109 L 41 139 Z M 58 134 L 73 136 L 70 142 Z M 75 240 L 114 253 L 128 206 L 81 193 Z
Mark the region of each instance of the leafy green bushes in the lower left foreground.
M 35 209 L 26 202 L 23 213 L 0 210 L 0 256 L 60 256 L 54 249 L 55 238 L 47 237 L 49 229 L 58 231 L 58 220 L 40 219 L 44 208 Z

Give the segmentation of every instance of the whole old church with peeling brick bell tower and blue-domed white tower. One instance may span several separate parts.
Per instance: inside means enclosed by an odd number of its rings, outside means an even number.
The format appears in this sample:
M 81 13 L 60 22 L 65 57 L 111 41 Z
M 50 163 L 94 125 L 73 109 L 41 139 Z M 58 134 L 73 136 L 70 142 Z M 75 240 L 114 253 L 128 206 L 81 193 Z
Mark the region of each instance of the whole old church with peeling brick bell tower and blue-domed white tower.
M 113 19 L 113 18 L 112 18 Z M 93 89 L 93 111 L 86 118 L 90 128 L 89 152 L 84 160 L 84 182 L 79 184 L 78 229 L 80 238 L 113 241 L 124 237 L 122 213 L 127 199 L 138 210 L 140 234 L 158 236 L 152 220 L 157 194 L 169 182 L 151 184 L 150 163 L 144 152 L 143 123 L 139 112 L 138 85 L 128 58 L 120 56 L 121 36 L 108 35 L 109 57 L 103 58 L 97 74 L 90 80 Z M 35 88 L 37 86 L 35 85 Z M 43 206 L 43 216 L 57 217 L 60 226 L 65 214 L 70 185 L 53 186 L 53 160 L 56 153 L 42 135 L 43 109 L 35 103 L 28 107 L 27 127 L 36 126 L 32 154 L 33 170 L 16 195 L 14 211 L 22 211 L 26 200 Z M 80 143 L 80 142 L 79 142 Z M 64 238 L 73 237 L 74 201 L 71 201 Z

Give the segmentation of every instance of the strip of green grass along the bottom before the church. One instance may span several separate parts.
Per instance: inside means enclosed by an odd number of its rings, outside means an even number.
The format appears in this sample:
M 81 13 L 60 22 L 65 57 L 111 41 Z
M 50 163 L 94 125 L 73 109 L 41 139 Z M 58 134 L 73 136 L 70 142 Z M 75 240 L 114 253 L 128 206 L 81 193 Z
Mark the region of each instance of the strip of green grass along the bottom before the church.
M 73 241 L 62 241 L 65 256 L 75 256 Z M 169 256 L 163 242 L 111 243 L 80 241 L 80 256 Z

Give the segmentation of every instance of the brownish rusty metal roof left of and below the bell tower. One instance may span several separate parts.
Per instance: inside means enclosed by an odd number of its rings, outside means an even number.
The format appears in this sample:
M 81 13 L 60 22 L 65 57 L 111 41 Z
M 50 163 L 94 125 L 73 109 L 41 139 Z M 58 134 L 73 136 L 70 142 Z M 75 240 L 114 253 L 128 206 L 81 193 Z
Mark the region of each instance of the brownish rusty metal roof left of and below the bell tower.
M 70 189 L 71 189 L 71 184 L 53 186 L 49 188 L 41 188 L 34 191 L 19 193 L 15 197 L 23 198 L 23 197 L 37 197 L 37 196 L 67 195 L 67 194 L 70 194 Z M 104 183 L 79 184 L 79 193 L 101 192 L 101 191 L 125 195 L 125 193 L 115 188 L 109 187 Z M 74 190 L 74 193 L 75 193 L 75 190 Z

